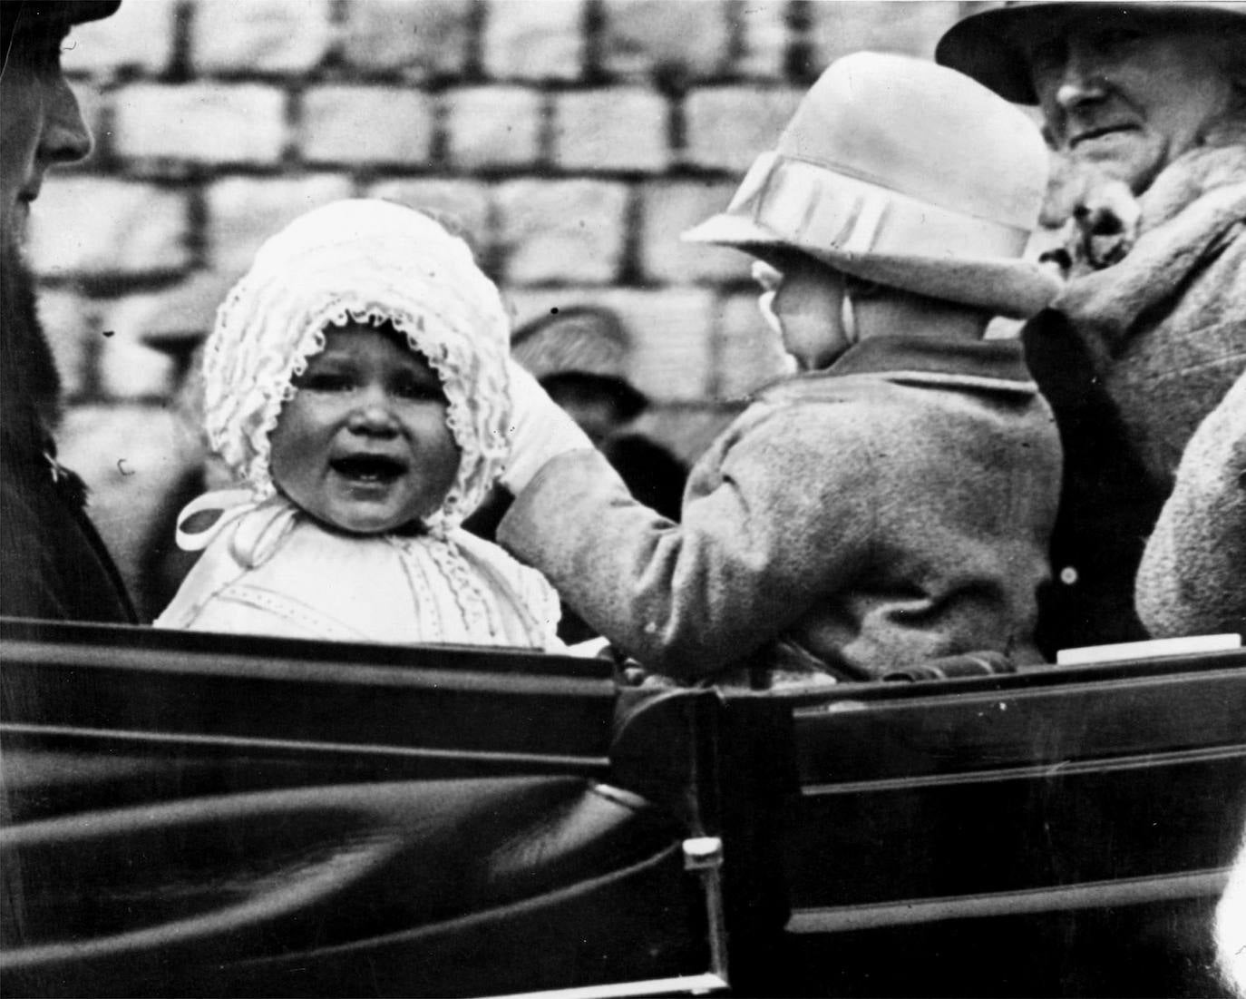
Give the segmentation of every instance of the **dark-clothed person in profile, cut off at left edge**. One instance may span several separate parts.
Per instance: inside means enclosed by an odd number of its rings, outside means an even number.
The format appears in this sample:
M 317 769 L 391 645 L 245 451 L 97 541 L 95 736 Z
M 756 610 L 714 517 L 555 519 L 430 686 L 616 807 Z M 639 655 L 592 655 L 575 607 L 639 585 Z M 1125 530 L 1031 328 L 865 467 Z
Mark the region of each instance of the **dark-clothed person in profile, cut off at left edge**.
M 85 157 L 91 133 L 60 69 L 75 24 L 112 2 L 4 2 L 0 75 L 0 615 L 132 622 L 135 611 L 86 515 L 86 488 L 56 460 L 60 379 L 21 257 L 45 172 Z

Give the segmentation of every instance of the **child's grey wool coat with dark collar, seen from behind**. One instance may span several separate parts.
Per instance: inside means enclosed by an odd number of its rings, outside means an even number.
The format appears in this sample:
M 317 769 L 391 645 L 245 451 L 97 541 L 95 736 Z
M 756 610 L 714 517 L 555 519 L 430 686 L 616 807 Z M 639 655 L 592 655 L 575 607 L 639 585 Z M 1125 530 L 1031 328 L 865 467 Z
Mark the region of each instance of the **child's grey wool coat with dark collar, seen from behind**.
M 1033 662 L 1059 461 L 1015 342 L 885 337 L 761 393 L 693 469 L 679 524 L 584 450 L 542 469 L 498 540 L 685 681 Z

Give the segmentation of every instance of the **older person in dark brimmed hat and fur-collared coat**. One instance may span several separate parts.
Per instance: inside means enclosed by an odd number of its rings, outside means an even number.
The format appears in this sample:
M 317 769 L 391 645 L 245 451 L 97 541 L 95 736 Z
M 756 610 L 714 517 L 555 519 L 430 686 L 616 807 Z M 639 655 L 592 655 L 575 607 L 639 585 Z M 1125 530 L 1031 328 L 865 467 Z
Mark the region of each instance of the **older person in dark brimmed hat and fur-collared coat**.
M 1063 173 L 1069 282 L 1022 333 L 1065 450 L 1039 644 L 1144 639 L 1144 544 L 1246 367 L 1246 4 L 1013 4 L 936 59 L 1038 105 Z

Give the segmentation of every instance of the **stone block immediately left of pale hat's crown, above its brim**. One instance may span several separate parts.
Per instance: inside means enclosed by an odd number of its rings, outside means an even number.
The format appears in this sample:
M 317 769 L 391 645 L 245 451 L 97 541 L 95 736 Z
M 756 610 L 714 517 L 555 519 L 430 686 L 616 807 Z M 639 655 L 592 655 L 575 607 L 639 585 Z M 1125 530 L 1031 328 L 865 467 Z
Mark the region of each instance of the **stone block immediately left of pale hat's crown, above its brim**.
M 743 175 L 759 153 L 774 148 L 804 90 L 706 87 L 684 102 L 685 151 L 690 166 Z

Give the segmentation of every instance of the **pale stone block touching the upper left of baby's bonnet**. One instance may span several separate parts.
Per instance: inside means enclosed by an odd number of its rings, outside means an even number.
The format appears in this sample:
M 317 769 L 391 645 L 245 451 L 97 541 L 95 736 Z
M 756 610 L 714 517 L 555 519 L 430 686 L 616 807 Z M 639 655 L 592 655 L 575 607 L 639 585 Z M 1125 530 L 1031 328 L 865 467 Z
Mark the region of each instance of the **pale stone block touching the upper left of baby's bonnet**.
M 304 212 L 348 198 L 349 177 L 227 177 L 207 188 L 208 258 L 217 271 L 242 272 L 269 236 Z

